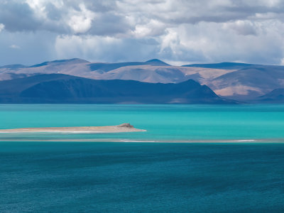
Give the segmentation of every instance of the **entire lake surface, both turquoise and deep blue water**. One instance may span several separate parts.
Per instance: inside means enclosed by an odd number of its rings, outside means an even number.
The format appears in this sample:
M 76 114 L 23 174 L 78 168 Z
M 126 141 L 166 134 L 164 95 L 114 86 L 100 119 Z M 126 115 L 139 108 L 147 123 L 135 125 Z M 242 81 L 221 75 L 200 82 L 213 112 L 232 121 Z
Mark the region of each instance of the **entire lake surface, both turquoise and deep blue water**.
M 0 105 L 0 118 L 147 130 L 0 134 L 0 212 L 284 211 L 284 105 Z

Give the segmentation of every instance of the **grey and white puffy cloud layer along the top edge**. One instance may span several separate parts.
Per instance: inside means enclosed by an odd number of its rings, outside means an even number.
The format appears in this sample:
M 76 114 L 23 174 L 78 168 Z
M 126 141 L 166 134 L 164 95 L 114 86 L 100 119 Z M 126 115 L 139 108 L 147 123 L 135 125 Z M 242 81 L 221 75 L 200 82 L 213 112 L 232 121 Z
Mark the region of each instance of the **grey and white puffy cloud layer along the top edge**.
M 184 23 L 257 21 L 283 14 L 283 1 L 245 0 L 26 0 L 0 3 L 0 20 L 8 31 L 60 34 L 156 35 Z M 110 18 L 109 18 L 110 17 Z M 158 27 L 158 32 L 153 32 Z M 99 30 L 96 30 L 99 28 Z

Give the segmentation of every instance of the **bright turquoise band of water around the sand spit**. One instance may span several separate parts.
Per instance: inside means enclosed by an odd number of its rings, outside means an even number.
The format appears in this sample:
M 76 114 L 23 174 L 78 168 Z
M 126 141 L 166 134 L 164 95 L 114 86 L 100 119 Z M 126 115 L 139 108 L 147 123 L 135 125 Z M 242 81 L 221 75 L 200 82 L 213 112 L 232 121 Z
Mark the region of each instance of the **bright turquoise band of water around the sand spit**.
M 0 105 L 0 129 L 109 126 L 125 122 L 141 133 L 0 134 L 0 140 L 282 141 L 284 105 Z

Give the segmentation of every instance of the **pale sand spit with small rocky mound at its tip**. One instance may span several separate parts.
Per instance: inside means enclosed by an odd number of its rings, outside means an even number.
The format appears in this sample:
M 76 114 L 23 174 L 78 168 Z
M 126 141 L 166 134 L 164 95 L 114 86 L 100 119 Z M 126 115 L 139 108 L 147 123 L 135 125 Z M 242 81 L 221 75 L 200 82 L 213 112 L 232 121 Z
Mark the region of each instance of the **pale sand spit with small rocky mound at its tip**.
M 72 127 L 0 129 L 0 133 L 22 133 L 22 132 L 119 133 L 119 132 L 133 132 L 133 131 L 146 131 L 146 130 L 136 129 L 131 124 L 120 124 L 117 126 L 72 126 Z

